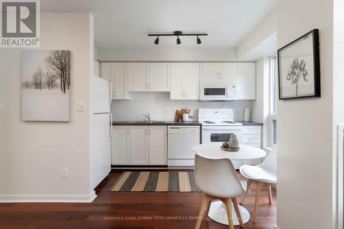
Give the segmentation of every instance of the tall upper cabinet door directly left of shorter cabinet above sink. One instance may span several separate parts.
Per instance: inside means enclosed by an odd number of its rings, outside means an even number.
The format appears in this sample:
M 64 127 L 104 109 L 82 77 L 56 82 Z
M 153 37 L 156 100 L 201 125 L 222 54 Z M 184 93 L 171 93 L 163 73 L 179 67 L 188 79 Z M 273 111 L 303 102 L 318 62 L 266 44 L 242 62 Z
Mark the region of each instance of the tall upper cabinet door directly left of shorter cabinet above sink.
M 112 98 L 127 99 L 127 63 L 114 63 Z

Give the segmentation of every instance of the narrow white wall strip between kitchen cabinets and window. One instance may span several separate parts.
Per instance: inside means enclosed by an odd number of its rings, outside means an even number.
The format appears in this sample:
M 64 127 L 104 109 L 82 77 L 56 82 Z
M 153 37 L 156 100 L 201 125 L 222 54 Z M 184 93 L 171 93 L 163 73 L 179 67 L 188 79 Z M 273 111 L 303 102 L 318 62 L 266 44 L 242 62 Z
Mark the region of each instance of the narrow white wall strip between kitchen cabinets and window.
M 256 62 L 256 100 L 252 101 L 252 121 L 263 123 L 263 146 L 268 146 L 270 113 L 270 58 Z

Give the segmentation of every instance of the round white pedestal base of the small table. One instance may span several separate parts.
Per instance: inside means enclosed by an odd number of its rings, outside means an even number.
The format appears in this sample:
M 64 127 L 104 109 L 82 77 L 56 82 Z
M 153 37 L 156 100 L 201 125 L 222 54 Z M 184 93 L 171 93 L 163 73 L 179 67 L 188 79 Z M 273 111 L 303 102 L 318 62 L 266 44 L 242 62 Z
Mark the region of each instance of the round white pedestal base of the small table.
M 248 212 L 248 210 L 241 205 L 238 205 L 238 207 L 239 207 L 239 211 L 240 211 L 241 219 L 243 223 L 247 223 L 250 220 L 250 212 Z M 237 219 L 237 214 L 235 213 L 233 203 L 231 204 L 231 208 L 232 208 L 233 224 L 237 226 L 239 225 L 239 220 Z M 213 219 L 213 221 L 217 223 L 228 225 L 227 210 L 226 210 L 226 206 L 224 205 L 224 203 L 222 203 L 222 201 L 213 201 L 213 203 L 211 203 L 208 217 Z

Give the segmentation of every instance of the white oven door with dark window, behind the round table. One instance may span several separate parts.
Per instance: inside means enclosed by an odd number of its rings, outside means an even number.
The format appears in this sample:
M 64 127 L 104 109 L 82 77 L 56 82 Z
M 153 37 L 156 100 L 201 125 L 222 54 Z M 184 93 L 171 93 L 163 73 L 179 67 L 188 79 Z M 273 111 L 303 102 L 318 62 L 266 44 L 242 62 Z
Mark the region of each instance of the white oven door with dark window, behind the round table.
M 202 144 L 210 142 L 228 142 L 230 135 L 235 134 L 241 143 L 242 127 L 202 127 Z

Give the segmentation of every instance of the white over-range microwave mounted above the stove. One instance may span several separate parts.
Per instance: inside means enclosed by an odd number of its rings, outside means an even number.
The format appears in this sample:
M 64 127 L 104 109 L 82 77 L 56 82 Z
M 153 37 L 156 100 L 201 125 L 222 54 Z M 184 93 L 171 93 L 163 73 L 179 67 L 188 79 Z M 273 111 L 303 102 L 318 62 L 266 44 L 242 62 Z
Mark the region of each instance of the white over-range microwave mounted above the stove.
M 235 83 L 202 83 L 200 100 L 237 100 Z

